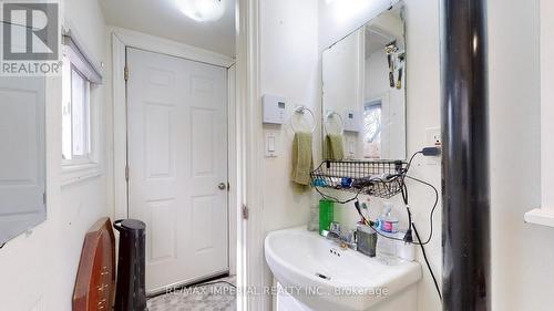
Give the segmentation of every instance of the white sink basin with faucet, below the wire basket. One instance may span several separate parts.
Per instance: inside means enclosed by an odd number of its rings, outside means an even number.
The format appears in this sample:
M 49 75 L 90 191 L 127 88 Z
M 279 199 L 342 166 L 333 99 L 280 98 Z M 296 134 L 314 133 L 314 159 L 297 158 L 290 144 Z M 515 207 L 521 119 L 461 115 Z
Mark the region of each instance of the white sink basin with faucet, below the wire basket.
M 270 232 L 265 256 L 280 288 L 298 301 L 297 310 L 381 311 L 389 310 L 387 304 L 416 310 L 416 284 L 422 277 L 418 262 L 387 266 L 304 227 Z

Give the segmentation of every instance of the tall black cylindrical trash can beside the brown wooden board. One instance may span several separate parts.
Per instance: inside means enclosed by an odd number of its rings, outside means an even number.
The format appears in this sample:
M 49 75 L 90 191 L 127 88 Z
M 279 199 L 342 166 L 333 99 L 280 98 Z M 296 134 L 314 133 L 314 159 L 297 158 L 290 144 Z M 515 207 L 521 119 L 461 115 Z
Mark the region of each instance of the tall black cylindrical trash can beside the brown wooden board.
M 115 311 L 146 311 L 145 247 L 146 225 L 124 219 L 113 222 L 120 231 Z

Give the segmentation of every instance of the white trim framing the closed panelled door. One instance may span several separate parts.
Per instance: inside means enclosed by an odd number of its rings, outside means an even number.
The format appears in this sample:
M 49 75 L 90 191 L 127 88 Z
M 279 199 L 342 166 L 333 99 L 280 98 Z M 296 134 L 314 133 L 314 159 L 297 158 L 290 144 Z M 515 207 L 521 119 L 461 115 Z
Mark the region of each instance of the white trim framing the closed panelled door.
M 228 83 L 234 83 L 235 60 L 212 51 L 186 45 L 183 43 L 156 38 L 153 35 L 140 33 L 121 28 L 110 28 L 109 33 L 112 42 L 112 87 L 113 87 L 113 175 L 114 175 L 114 211 L 115 219 L 129 217 L 127 209 L 127 105 L 126 105 L 126 85 L 124 79 L 124 70 L 126 64 L 126 48 L 134 48 L 150 52 L 156 52 L 171 56 L 177 56 L 206 64 L 217 65 L 227 69 Z M 132 69 L 131 69 L 132 70 Z M 232 93 L 229 92 L 229 95 Z M 228 179 L 229 179 L 229 232 L 228 232 L 228 249 L 229 249 L 229 273 L 236 273 L 236 248 L 237 248 L 237 222 L 230 217 L 237 217 L 237 198 L 238 198 L 238 172 L 237 166 L 237 124 L 236 124 L 236 101 L 228 99 Z

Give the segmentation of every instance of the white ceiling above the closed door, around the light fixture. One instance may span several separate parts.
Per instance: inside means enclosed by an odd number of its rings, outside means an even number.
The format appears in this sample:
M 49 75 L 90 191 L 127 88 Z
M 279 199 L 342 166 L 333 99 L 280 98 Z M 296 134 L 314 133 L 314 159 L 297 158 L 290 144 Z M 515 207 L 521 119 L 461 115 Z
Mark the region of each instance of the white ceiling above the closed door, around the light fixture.
M 215 22 L 187 18 L 176 1 L 99 0 L 109 24 L 235 56 L 235 0 L 222 0 L 225 14 Z

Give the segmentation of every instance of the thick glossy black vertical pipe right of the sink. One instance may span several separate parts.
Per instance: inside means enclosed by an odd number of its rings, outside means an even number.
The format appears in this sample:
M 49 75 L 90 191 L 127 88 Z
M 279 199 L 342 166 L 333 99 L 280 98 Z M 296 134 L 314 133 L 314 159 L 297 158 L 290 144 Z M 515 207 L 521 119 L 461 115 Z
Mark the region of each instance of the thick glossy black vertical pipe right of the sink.
M 491 310 L 486 0 L 442 0 L 443 310 Z

